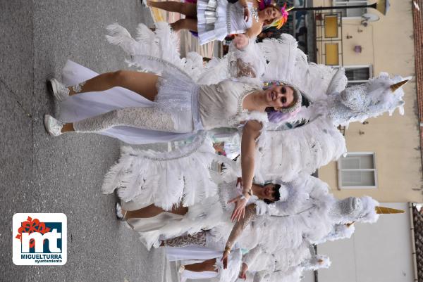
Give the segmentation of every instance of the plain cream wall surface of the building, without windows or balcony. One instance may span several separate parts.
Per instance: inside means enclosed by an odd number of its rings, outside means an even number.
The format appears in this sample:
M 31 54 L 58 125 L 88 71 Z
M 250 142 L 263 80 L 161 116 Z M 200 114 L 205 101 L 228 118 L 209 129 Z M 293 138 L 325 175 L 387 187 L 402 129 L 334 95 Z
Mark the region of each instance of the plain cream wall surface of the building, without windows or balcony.
M 317 6 L 318 1 L 314 1 Z M 320 3 L 322 1 L 319 1 Z M 321 6 L 329 6 L 324 1 Z M 360 20 L 343 19 L 343 65 L 372 65 L 373 75 L 389 72 L 403 77 L 415 75 L 412 1 L 391 0 L 388 15 L 360 25 Z M 362 32 L 357 32 L 360 29 Z M 346 35 L 352 39 L 346 39 Z M 355 53 L 355 45 L 362 53 Z M 375 152 L 378 187 L 375 189 L 337 190 L 336 162 L 319 169 L 319 177 L 328 182 L 340 198 L 367 194 L 381 202 L 423 202 L 422 156 L 420 153 L 415 79 L 404 86 L 405 115 L 385 114 L 368 120 L 369 124 L 350 124 L 345 132 L 350 152 Z M 364 132 L 360 135 L 359 131 Z

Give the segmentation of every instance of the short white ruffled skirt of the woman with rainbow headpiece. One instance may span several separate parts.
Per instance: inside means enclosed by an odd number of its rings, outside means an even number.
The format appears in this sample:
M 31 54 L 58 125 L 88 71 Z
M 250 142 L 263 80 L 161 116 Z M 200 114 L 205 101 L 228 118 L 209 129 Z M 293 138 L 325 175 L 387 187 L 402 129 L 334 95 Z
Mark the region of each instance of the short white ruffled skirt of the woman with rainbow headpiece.
M 222 41 L 228 35 L 228 1 L 198 0 L 197 30 L 200 45 Z

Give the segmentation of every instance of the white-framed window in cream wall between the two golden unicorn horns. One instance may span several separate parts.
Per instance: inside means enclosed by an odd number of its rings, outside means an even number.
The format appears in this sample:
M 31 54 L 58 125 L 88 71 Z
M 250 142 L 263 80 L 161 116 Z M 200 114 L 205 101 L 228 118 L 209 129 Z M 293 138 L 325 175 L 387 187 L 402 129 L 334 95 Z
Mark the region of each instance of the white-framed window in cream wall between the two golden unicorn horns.
M 347 153 L 338 160 L 339 188 L 376 188 L 374 153 Z

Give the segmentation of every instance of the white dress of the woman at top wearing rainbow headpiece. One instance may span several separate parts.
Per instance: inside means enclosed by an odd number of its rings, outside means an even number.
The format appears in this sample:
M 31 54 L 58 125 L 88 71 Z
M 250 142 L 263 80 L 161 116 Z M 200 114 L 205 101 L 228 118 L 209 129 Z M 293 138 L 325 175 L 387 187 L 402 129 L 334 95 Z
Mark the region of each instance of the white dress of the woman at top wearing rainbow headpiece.
M 222 41 L 229 34 L 245 33 L 252 25 L 252 3 L 247 3 L 250 18 L 244 20 L 244 9 L 240 2 L 231 4 L 226 0 L 197 1 L 197 29 L 200 45 Z

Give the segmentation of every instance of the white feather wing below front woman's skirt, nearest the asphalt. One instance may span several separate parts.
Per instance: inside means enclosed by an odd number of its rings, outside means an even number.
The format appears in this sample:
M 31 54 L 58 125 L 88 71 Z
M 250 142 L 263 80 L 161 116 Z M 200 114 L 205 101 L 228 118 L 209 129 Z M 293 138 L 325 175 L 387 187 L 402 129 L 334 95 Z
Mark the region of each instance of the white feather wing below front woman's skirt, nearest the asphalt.
M 209 173 L 215 160 L 221 158 L 204 132 L 190 145 L 171 152 L 123 147 L 121 158 L 104 177 L 102 191 L 117 189 L 126 202 L 154 203 L 164 210 L 181 201 L 189 206 L 215 193 L 216 184 Z

